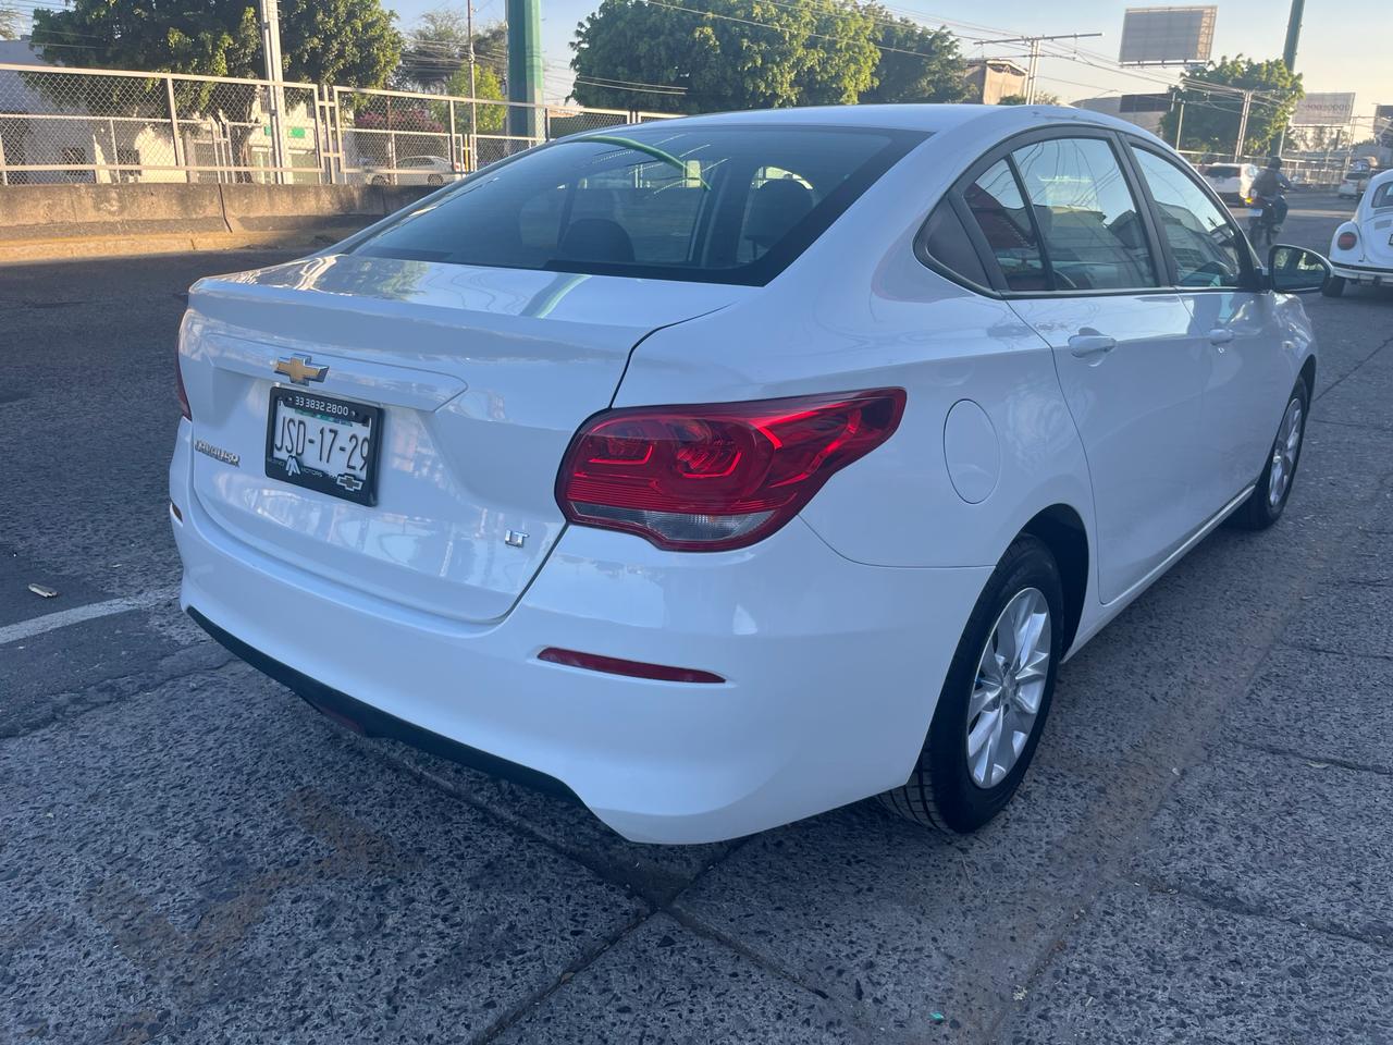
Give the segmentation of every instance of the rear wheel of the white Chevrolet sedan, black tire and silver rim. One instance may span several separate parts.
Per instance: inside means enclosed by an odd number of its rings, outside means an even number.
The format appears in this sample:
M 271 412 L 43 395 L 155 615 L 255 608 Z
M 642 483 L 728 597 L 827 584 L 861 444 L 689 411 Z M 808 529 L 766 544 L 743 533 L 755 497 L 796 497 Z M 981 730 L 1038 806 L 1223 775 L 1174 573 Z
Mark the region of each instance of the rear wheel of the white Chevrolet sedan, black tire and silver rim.
M 879 796 L 886 808 L 965 833 L 1006 807 L 1049 713 L 1063 607 L 1055 557 L 1017 538 L 968 617 L 914 772 Z

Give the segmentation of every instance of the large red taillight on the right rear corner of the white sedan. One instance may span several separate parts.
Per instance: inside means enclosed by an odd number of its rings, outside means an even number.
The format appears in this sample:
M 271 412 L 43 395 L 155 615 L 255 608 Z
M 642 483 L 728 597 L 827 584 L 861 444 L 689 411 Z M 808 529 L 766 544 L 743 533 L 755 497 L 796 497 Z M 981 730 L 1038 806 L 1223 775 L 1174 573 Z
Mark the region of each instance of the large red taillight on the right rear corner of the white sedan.
M 903 412 L 903 389 L 612 410 L 575 433 L 556 496 L 571 522 L 659 548 L 744 548 L 889 439 Z

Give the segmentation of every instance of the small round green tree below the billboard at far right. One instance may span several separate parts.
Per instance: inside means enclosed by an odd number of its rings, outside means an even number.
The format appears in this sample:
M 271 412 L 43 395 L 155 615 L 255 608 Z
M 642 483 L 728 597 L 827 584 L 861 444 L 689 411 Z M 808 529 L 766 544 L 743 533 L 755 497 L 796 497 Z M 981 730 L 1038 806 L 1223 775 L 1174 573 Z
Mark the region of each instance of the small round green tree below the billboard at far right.
M 1258 61 L 1240 54 L 1212 61 L 1205 68 L 1185 74 L 1181 95 L 1185 102 L 1183 149 L 1231 153 L 1237 142 L 1243 99 L 1231 91 L 1208 91 L 1206 85 L 1256 92 L 1248 113 L 1248 130 L 1238 149 L 1250 156 L 1265 153 L 1276 145 L 1295 111 L 1297 100 L 1305 96 L 1301 75 L 1293 74 L 1280 59 Z M 1176 139 L 1177 118 L 1178 106 L 1162 117 L 1160 137 L 1166 141 Z

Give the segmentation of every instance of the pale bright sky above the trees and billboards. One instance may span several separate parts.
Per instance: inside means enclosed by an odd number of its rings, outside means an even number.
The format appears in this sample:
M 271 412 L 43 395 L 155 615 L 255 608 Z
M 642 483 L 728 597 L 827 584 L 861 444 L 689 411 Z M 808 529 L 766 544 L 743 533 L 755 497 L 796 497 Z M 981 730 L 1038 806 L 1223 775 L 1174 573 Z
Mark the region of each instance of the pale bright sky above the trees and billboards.
M 1202 0 L 1170 0 L 1173 6 Z M 462 10 L 464 0 L 456 0 Z M 1156 3 L 1163 6 L 1165 0 Z M 1217 0 L 1215 57 L 1244 53 L 1250 57 L 1280 57 L 1287 31 L 1284 0 Z M 384 0 L 396 10 L 403 28 L 422 13 L 446 6 L 446 0 Z M 599 6 L 599 0 L 542 0 L 542 45 L 546 60 L 546 98 L 561 100 L 570 91 L 567 46 L 575 24 Z M 1041 89 L 1066 102 L 1106 93 L 1165 91 L 1174 82 L 1173 71 L 1144 70 L 1123 72 L 1106 68 L 1117 57 L 1123 25 L 1120 0 L 1074 0 L 1071 4 L 1042 4 L 1039 0 L 892 0 L 886 4 L 926 25 L 943 25 L 960 38 L 1002 39 L 1024 33 L 1102 32 L 1099 39 L 1078 42 L 1087 53 L 1081 60 L 1045 59 L 1041 63 Z M 1138 0 L 1135 6 L 1148 6 Z M 500 21 L 504 0 L 475 0 L 475 18 L 483 24 Z M 688 15 L 673 11 L 674 18 Z M 993 32 L 995 31 L 995 32 Z M 1068 47 L 1071 45 L 1056 45 Z M 1024 64 L 1018 46 L 970 43 L 968 57 L 1015 57 Z M 1092 64 L 1089 64 L 1092 63 Z M 1103 64 L 1103 68 L 1098 68 Z M 1368 130 L 1375 104 L 1393 104 L 1393 4 L 1389 0 L 1307 0 L 1297 71 L 1304 74 L 1307 92 L 1353 91 L 1357 130 Z M 1165 81 L 1165 82 L 1158 82 Z

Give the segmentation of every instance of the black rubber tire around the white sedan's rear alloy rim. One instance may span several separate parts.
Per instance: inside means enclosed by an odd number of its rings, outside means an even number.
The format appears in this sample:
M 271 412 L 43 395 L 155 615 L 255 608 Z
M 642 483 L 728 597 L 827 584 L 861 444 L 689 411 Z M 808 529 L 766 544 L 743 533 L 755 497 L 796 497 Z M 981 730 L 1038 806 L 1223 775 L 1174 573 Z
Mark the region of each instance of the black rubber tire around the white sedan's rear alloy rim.
M 1029 736 L 1015 764 L 996 784 L 978 786 L 968 765 L 968 701 L 978 665 L 997 620 L 1018 594 L 1035 588 L 1049 607 L 1049 666 Z M 1059 566 L 1042 541 L 1018 536 L 986 581 L 968 617 L 939 694 L 919 761 L 900 787 L 878 796 L 893 812 L 937 830 L 968 833 L 999 814 L 1015 794 L 1039 743 L 1055 695 L 1055 673 L 1063 653 L 1064 594 Z

